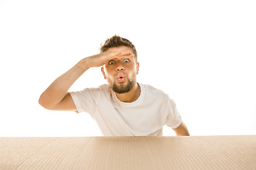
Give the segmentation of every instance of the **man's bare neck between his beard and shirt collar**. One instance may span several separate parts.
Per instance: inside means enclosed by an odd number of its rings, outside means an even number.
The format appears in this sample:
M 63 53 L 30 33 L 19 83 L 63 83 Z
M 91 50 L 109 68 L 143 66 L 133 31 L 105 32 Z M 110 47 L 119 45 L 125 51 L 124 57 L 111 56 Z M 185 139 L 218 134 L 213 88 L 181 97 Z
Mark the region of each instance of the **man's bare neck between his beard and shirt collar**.
M 125 94 L 117 94 L 117 98 L 119 101 L 125 102 L 125 103 L 132 103 L 134 101 L 137 101 L 139 98 L 139 95 L 141 93 L 141 89 L 138 83 L 134 84 L 132 87 L 132 90 L 125 93 Z

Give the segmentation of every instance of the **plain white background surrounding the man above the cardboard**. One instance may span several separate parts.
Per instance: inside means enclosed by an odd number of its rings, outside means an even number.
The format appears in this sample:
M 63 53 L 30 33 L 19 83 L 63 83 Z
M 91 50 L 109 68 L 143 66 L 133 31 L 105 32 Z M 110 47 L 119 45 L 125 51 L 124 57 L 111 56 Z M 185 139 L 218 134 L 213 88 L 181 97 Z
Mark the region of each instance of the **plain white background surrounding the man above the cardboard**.
M 256 134 L 256 1 L 0 0 L 0 136 L 100 136 L 87 113 L 38 98 L 112 35 L 137 48 L 137 81 L 174 98 L 191 135 Z M 89 69 L 70 91 L 107 83 Z M 175 135 L 164 126 L 164 135 Z

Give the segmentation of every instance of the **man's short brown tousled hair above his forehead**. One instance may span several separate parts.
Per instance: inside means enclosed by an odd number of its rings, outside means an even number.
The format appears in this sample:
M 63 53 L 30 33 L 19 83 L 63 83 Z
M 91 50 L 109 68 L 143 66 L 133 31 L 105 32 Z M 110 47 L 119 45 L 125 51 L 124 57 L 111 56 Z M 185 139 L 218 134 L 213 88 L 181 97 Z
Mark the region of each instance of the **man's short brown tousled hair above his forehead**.
M 114 35 L 114 36 L 112 36 L 112 38 L 108 38 L 103 45 L 101 44 L 100 52 L 105 52 L 105 51 L 107 51 L 107 49 L 109 49 L 111 47 L 121 47 L 121 46 L 132 48 L 134 57 L 137 60 L 137 50 L 136 50 L 135 46 L 132 44 L 131 41 L 129 41 L 125 38 L 119 37 L 119 35 Z

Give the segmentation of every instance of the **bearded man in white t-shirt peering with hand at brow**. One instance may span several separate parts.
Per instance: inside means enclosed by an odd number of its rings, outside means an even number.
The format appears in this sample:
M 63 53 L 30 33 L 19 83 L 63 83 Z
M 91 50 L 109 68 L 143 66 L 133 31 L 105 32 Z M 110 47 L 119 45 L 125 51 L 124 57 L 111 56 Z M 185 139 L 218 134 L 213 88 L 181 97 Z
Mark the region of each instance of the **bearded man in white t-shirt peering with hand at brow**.
M 90 67 L 102 67 L 108 84 L 68 92 Z M 163 91 L 137 83 L 137 74 L 139 62 L 134 45 L 114 35 L 101 46 L 100 54 L 85 57 L 55 79 L 39 103 L 54 111 L 90 113 L 105 136 L 161 136 L 164 125 L 176 135 L 189 135 L 174 101 Z

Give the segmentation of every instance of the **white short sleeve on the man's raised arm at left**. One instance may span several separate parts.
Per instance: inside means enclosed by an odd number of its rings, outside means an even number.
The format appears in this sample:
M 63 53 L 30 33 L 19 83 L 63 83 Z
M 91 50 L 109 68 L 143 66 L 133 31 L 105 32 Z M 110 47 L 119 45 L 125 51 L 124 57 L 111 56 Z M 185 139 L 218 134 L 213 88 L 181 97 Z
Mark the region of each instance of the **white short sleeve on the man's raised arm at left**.
M 72 91 L 68 93 L 73 98 L 75 107 L 78 109 L 78 113 L 86 112 L 90 113 L 90 115 L 92 115 L 92 113 L 95 113 L 95 97 L 92 94 L 93 91 L 91 89 Z

